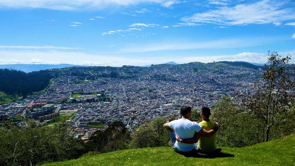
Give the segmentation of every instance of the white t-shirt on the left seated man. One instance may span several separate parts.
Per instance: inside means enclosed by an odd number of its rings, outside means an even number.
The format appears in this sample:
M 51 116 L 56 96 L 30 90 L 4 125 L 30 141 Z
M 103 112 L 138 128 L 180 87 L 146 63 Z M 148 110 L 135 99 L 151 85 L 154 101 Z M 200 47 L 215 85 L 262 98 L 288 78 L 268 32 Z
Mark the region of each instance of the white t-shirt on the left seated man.
M 169 122 L 169 127 L 173 128 L 175 133 L 183 140 L 193 138 L 195 132 L 199 132 L 202 129 L 202 126 L 197 122 L 192 122 L 183 118 Z M 178 142 L 177 140 L 174 146 L 183 152 L 191 151 L 194 148 L 194 144 L 185 144 Z

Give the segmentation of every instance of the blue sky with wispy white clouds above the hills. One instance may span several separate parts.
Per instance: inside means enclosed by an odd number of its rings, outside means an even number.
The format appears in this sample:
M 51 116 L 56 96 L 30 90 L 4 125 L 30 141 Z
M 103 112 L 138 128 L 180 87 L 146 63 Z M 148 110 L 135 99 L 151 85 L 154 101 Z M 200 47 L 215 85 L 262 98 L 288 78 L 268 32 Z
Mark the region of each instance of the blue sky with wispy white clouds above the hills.
M 0 0 L 0 23 L 0 64 L 295 57 L 294 0 Z

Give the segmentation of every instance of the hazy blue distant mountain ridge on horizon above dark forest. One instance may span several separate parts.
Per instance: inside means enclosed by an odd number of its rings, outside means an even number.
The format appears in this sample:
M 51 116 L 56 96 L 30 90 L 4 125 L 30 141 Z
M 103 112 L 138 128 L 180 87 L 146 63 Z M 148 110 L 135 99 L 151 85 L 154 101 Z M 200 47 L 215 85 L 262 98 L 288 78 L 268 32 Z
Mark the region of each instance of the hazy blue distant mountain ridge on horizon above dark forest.
M 0 69 L 15 69 L 15 70 L 21 70 L 26 73 L 29 73 L 32 71 L 39 71 L 39 70 L 46 70 L 46 69 L 60 69 L 60 68 L 73 67 L 73 66 L 84 66 L 84 65 L 11 64 L 11 65 L 0 65 Z

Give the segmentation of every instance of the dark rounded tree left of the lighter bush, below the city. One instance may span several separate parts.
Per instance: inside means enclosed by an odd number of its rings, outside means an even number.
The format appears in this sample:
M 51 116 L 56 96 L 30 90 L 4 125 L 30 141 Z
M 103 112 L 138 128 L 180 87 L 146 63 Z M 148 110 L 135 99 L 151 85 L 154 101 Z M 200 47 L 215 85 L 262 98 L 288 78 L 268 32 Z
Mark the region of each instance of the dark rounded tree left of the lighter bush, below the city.
M 112 152 L 128 148 L 130 132 L 122 121 L 114 121 L 109 127 L 101 132 L 94 132 L 86 146 L 89 151 L 98 153 Z

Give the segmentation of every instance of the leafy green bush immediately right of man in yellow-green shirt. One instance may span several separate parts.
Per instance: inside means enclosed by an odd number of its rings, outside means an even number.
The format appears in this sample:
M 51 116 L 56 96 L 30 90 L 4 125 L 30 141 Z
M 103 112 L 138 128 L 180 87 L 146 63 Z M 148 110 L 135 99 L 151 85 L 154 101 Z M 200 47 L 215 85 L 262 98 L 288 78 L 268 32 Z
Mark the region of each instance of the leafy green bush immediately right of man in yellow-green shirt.
M 253 115 L 242 113 L 229 96 L 224 96 L 216 103 L 210 119 L 220 125 L 216 135 L 218 146 L 242 147 L 259 142 L 259 121 Z M 258 135 L 257 135 L 258 134 Z

